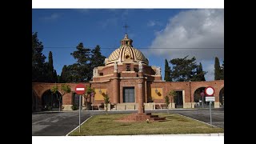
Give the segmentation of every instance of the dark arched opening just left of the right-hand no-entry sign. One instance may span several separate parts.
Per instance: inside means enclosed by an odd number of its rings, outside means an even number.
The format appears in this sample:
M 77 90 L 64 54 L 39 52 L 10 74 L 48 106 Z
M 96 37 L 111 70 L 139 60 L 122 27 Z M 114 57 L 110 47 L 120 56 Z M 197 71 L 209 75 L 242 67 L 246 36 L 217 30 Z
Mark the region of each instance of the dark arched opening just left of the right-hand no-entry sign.
M 202 106 L 206 107 L 206 97 L 202 97 L 201 93 L 204 93 L 206 87 L 199 87 L 194 91 L 194 108 L 202 108 Z

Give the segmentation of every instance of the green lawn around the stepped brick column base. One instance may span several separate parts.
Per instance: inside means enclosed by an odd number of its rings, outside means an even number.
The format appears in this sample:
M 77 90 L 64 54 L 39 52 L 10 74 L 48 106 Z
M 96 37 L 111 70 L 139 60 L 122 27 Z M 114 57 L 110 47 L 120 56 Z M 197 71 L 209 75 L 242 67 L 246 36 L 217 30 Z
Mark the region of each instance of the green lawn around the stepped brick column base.
M 126 115 L 95 115 L 81 126 L 81 134 L 79 134 L 78 128 L 69 135 L 210 134 L 224 132 L 222 128 L 211 127 L 178 114 L 158 113 L 159 117 L 166 117 L 166 122 L 114 121 Z

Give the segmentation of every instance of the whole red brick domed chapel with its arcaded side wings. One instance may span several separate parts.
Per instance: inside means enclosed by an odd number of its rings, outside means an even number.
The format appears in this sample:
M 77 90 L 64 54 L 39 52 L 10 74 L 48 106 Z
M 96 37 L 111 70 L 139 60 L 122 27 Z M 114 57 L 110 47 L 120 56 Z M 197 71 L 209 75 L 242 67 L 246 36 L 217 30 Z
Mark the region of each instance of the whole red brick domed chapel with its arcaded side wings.
M 127 42 L 127 44 L 126 44 Z M 148 66 L 148 60 L 144 55 L 131 44 L 132 40 L 126 37 L 122 40 L 122 45 L 118 50 L 110 54 L 106 58 L 106 66 L 98 66 L 94 68 L 94 77 L 91 82 L 82 83 L 96 90 L 104 89 L 110 97 L 112 110 L 120 110 L 127 108 L 135 108 L 138 113 L 142 113 L 144 105 L 154 109 L 151 105 L 147 105 L 153 101 L 152 106 L 159 106 L 165 102 L 164 97 L 169 94 L 170 90 L 181 91 L 183 108 L 194 108 L 194 92 L 200 87 L 212 86 L 215 90 L 214 107 L 219 107 L 219 93 L 224 87 L 224 81 L 211 82 L 164 82 L 162 81 L 161 69 L 157 66 Z M 120 49 L 120 50 L 119 50 Z M 70 110 L 73 105 L 73 94 L 77 83 L 67 83 L 71 87 L 71 93 L 65 94 L 62 98 L 64 110 Z M 42 109 L 42 95 L 46 90 L 50 90 L 52 86 L 61 86 L 61 83 L 32 83 L 32 110 Z M 124 88 L 134 87 L 134 102 L 124 102 Z M 158 90 L 158 95 L 154 91 Z M 61 94 L 62 92 L 59 91 Z M 96 91 L 98 93 L 98 91 Z M 153 94 L 152 94 L 153 93 Z M 152 99 L 154 97 L 154 99 Z M 89 98 L 87 102 L 93 105 L 103 103 L 101 94 L 98 93 L 100 100 Z M 127 98 L 127 97 L 126 97 Z M 85 99 L 82 99 L 83 103 Z M 174 103 L 174 99 L 170 100 Z M 118 108 L 119 107 L 119 108 Z M 173 108 L 174 106 L 170 107 Z

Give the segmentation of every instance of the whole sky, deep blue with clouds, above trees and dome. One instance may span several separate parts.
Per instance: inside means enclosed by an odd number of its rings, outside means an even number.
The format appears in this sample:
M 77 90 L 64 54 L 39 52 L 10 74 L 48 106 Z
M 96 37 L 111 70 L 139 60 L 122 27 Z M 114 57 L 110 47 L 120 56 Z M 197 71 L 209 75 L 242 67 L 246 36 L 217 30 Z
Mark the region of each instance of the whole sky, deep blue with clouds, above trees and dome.
M 108 58 L 126 33 L 150 66 L 161 67 L 162 79 L 165 59 L 194 56 L 206 81 L 214 80 L 214 58 L 224 61 L 224 9 L 32 9 L 32 32 L 46 62 L 52 51 L 57 74 L 76 62 L 70 53 L 79 42 L 99 45 Z

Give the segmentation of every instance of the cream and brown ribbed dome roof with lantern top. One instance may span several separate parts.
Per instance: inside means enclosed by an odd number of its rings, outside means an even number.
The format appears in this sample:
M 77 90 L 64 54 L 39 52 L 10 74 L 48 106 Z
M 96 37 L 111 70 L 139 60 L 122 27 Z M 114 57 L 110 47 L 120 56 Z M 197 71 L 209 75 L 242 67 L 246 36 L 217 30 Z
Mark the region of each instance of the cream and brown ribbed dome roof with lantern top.
M 132 42 L 133 40 L 129 39 L 128 35 L 126 34 L 125 38 L 123 38 L 121 41 L 122 45 L 110 54 L 106 65 L 114 62 L 123 62 L 129 59 L 133 62 L 142 61 L 142 63 L 148 65 L 148 60 L 145 58 L 140 50 L 137 50 L 132 46 Z

